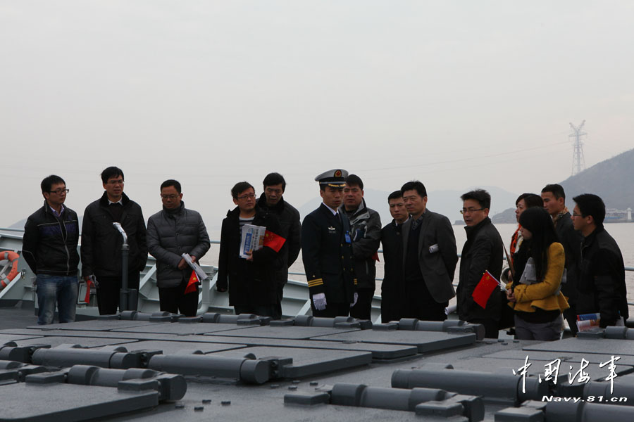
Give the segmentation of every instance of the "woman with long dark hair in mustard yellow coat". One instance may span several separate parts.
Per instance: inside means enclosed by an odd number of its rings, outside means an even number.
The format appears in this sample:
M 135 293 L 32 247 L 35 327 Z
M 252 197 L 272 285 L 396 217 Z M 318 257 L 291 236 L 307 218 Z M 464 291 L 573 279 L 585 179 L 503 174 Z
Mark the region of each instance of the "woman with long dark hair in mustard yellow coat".
M 520 215 L 521 234 L 528 241 L 528 256 L 518 281 L 506 286 L 509 306 L 515 310 L 515 338 L 559 340 L 569 305 L 560 292 L 566 255 L 557 241 L 552 218 L 543 208 L 530 208 Z M 524 245 L 523 245 L 524 247 Z

